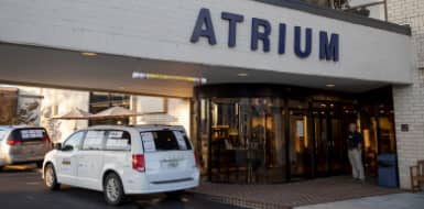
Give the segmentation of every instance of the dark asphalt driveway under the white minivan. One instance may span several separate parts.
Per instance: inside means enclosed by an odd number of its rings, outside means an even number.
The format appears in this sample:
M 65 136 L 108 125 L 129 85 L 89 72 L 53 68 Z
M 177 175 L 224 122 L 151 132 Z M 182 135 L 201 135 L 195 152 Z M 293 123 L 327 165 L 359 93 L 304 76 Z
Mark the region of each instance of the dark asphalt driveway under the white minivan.
M 62 186 L 58 191 L 50 191 L 36 168 L 8 167 L 0 172 L 1 209 L 104 209 L 116 208 L 106 205 L 101 193 Z M 232 206 L 211 202 L 191 195 L 170 199 L 163 195 L 131 197 L 120 209 L 230 209 Z

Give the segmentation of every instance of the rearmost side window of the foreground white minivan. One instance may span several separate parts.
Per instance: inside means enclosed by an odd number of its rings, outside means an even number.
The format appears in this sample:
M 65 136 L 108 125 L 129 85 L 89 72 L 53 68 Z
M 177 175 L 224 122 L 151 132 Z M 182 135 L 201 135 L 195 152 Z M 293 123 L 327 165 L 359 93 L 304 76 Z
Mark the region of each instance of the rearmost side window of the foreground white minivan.
M 130 151 L 131 135 L 127 131 L 112 130 L 106 133 L 105 150 L 107 151 Z

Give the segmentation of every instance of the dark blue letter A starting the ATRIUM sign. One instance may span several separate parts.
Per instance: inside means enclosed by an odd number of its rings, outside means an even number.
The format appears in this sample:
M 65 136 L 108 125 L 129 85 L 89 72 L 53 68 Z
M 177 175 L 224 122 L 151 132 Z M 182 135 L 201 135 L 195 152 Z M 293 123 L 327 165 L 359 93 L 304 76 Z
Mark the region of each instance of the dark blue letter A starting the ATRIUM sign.
M 205 25 L 205 29 L 203 25 Z M 206 8 L 200 9 L 200 12 L 197 16 L 196 25 L 194 26 L 192 38 L 189 41 L 192 43 L 196 43 L 198 42 L 200 36 L 207 37 L 210 45 L 217 44 L 214 25 L 211 23 L 210 12 L 209 9 Z

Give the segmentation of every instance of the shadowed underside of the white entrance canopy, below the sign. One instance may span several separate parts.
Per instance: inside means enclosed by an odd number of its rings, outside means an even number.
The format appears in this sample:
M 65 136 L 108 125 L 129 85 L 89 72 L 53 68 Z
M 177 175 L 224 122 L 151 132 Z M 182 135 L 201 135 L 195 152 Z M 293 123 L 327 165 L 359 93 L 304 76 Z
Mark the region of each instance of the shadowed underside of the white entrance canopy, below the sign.
M 205 77 L 207 84 L 284 84 L 361 92 L 390 82 L 307 76 L 244 68 L 153 61 L 45 47 L 0 44 L 0 82 L 188 98 L 193 82 L 133 79 L 133 72 Z M 335 85 L 329 88 L 326 85 Z

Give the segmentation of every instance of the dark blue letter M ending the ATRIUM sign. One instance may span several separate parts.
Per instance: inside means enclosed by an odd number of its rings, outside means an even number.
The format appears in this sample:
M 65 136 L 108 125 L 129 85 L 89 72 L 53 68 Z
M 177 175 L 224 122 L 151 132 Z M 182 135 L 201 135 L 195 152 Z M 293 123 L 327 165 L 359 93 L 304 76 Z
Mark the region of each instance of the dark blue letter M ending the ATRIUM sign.
M 319 32 L 319 59 L 338 62 L 338 34 L 331 33 L 328 41 L 327 32 Z

